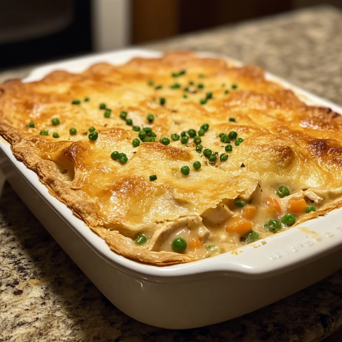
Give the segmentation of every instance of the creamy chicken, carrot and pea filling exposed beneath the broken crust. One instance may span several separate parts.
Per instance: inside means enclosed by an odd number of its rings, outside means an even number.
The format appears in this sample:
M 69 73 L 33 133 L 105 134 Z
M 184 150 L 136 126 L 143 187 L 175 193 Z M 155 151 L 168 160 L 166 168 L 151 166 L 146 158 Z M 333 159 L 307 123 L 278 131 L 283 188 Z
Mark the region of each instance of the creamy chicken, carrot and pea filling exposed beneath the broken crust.
M 338 194 L 310 189 L 291 193 L 290 186 L 259 184 L 250 198 L 223 200 L 201 216 L 180 218 L 164 225 L 153 250 L 188 253 L 204 259 L 232 251 L 291 227 L 296 221 Z M 323 196 L 323 197 L 321 197 Z M 137 245 L 148 244 L 148 232 L 135 237 Z

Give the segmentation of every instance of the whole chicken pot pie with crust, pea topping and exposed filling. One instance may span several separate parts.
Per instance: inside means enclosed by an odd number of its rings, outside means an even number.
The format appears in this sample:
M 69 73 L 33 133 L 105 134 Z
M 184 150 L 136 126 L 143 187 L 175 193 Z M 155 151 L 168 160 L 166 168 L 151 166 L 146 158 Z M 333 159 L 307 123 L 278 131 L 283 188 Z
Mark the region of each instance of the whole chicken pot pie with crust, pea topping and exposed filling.
M 109 247 L 169 265 L 342 205 L 342 119 L 190 52 L 1 85 L 0 133 Z

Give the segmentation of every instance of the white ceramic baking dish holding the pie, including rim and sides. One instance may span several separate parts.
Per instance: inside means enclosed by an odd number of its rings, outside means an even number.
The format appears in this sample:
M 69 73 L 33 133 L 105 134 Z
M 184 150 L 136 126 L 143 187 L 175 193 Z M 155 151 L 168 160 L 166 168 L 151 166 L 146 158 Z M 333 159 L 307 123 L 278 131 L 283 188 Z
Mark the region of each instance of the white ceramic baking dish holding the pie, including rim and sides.
M 135 56 L 160 55 L 141 49 L 90 55 L 38 67 L 24 81 L 41 79 L 56 69 L 80 72 L 97 62 L 120 64 Z M 342 113 L 337 105 L 272 75 L 267 78 L 294 90 L 307 103 Z M 114 305 L 144 323 L 172 329 L 218 323 L 273 303 L 342 267 L 342 208 L 239 253 L 166 267 L 126 259 L 51 196 L 3 139 L 0 150 L 5 177 L 58 244 Z

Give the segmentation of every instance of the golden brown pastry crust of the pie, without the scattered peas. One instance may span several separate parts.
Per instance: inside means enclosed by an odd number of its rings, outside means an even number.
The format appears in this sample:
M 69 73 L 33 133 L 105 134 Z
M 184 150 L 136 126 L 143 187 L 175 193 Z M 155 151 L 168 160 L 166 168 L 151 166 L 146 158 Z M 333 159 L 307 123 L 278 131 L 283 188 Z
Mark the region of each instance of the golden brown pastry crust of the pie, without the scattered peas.
M 186 70 L 186 75 L 171 77 Z M 205 74 L 199 78 L 198 74 Z M 154 80 L 155 86 L 147 85 Z M 205 89 L 183 97 L 184 84 L 194 80 Z M 175 82 L 181 89 L 170 89 Z M 236 90 L 231 84 L 238 84 Z M 222 84 L 225 84 L 222 87 Z M 228 88 L 229 93 L 224 90 Z M 294 191 L 337 191 L 342 183 L 342 118 L 328 108 L 307 106 L 290 90 L 268 82 L 254 66 L 234 67 L 220 58 L 199 58 L 190 52 L 167 53 L 161 58 L 134 58 L 121 66 L 106 63 L 81 74 L 55 71 L 38 82 L 9 81 L 0 86 L 0 133 L 11 143 L 13 154 L 35 171 L 50 193 L 82 218 L 110 248 L 128 258 L 166 265 L 192 261 L 187 254 L 157 252 L 153 245 L 136 246 L 140 232 L 152 236 L 163 222 L 173 222 L 214 208 L 222 199 L 249 198 L 257 184 L 293 184 Z M 199 100 L 211 91 L 206 105 Z M 89 102 L 72 105 L 74 98 Z M 159 104 L 159 97 L 166 104 Z M 112 109 L 103 117 L 100 103 Z M 164 146 L 159 142 L 132 147 L 137 132 L 119 118 L 128 111 L 133 124 L 149 126 L 157 140 L 209 123 L 203 148 L 224 152 L 220 132 L 237 131 L 244 143 L 228 161 L 209 165 L 195 152 L 192 140 Z M 61 124 L 54 127 L 51 119 Z M 234 117 L 236 122 L 229 121 Z M 35 128 L 27 127 L 34 121 Z M 87 130 L 96 127 L 98 139 L 89 141 Z M 69 129 L 76 127 L 76 136 Z M 39 135 L 49 129 L 49 136 Z M 56 131 L 59 139 L 53 139 Z M 223 148 L 222 148 L 223 147 Z M 124 152 L 128 163 L 110 158 Z M 202 158 L 202 159 L 201 159 Z M 200 172 L 188 177 L 179 170 L 200 160 Z M 205 163 L 205 165 L 203 164 Z M 241 168 L 242 163 L 245 165 Z M 149 181 L 157 174 L 158 180 Z M 303 216 L 296 224 L 339 208 L 342 201 Z

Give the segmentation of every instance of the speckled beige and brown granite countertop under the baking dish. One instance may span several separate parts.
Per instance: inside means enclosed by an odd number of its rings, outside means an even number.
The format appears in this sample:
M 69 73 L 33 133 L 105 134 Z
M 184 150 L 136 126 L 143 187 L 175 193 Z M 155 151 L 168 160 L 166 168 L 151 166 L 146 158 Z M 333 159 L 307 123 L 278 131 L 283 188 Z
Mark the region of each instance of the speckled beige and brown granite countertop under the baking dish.
M 342 105 L 342 12 L 306 9 L 177 37 L 147 48 L 225 53 Z M 23 77 L 28 69 L 0 75 Z M 121 313 L 13 189 L 0 197 L 0 341 L 320 341 L 342 326 L 342 271 L 224 323 L 172 331 Z

